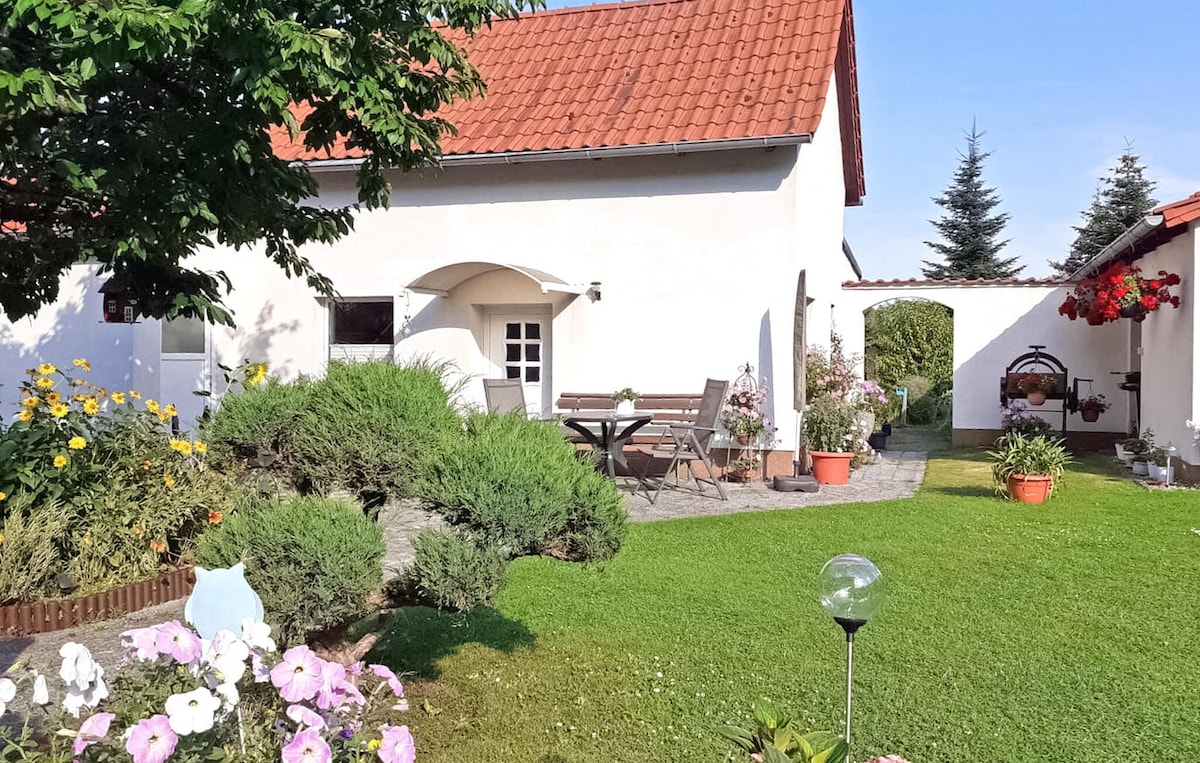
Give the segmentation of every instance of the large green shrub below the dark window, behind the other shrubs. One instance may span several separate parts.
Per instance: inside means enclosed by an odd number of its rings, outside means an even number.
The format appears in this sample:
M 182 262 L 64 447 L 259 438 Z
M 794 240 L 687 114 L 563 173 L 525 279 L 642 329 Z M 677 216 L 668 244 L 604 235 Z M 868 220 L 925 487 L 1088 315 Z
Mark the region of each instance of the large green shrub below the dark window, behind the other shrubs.
M 461 429 L 449 372 L 425 360 L 331 362 L 286 441 L 298 486 L 410 495 L 414 475 L 428 471 Z

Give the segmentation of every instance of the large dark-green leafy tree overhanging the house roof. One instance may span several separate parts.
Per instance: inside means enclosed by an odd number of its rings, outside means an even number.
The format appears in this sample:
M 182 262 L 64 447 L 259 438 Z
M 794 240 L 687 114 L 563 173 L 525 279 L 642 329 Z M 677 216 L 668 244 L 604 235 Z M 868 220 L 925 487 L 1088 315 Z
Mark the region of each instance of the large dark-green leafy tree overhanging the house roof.
M 388 168 L 432 163 L 437 115 L 484 82 L 455 44 L 540 0 L 8 0 L 0 12 L 0 310 L 32 314 L 73 263 L 134 284 L 149 316 L 232 323 L 212 244 L 265 256 L 318 292 L 300 253 L 346 235 L 358 205 L 317 184 L 268 130 L 366 160 L 358 203 L 388 203 Z M 461 30 L 461 31 L 457 31 Z M 290 110 L 302 104 L 302 124 Z

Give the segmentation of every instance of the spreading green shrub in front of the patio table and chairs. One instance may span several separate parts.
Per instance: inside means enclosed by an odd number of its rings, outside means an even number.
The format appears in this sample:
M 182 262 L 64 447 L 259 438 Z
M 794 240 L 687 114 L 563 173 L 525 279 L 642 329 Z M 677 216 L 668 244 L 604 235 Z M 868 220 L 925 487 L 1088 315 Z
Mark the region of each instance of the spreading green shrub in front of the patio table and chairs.
M 594 560 L 620 547 L 620 495 L 575 457 L 552 422 L 472 414 L 463 435 L 446 440 L 430 465 L 422 500 L 510 555 Z

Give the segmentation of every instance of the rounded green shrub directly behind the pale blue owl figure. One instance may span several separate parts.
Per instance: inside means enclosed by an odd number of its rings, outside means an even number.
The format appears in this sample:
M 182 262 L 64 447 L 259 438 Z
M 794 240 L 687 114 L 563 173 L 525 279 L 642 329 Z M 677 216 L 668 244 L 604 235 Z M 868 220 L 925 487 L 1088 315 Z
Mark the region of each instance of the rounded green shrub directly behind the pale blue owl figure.
M 258 501 L 200 539 L 205 567 L 246 563 L 282 644 L 368 612 L 383 583 L 383 531 L 358 506 L 316 497 Z

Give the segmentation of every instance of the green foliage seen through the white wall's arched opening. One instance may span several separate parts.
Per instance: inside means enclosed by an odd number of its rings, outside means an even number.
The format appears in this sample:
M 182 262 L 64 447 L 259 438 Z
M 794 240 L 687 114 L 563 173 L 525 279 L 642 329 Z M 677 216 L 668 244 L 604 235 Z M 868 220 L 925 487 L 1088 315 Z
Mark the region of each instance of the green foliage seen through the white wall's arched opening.
M 954 317 L 937 302 L 900 301 L 866 310 L 866 378 L 884 389 L 906 377 L 929 379 L 944 392 L 954 378 Z

